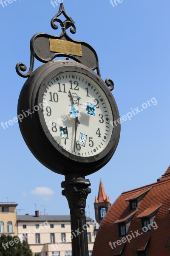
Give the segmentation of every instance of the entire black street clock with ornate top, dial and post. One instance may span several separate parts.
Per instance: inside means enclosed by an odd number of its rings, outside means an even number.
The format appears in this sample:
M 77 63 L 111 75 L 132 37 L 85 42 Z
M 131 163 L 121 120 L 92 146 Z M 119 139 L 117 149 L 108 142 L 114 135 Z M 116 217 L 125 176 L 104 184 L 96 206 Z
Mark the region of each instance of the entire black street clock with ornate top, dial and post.
M 85 176 L 111 160 L 120 137 L 119 122 L 113 125 L 119 111 L 111 93 L 114 83 L 101 79 L 93 47 L 66 33 L 76 33 L 76 27 L 62 3 L 51 20 L 53 29 L 58 29 L 57 23 L 60 35 L 38 33 L 31 38 L 29 69 L 24 63 L 16 65 L 17 74 L 28 78 L 17 112 L 23 117 L 21 134 L 34 157 L 65 176 L 61 187 L 70 208 L 72 256 L 88 256 L 85 206 L 91 183 Z M 34 57 L 45 64 L 33 71 Z

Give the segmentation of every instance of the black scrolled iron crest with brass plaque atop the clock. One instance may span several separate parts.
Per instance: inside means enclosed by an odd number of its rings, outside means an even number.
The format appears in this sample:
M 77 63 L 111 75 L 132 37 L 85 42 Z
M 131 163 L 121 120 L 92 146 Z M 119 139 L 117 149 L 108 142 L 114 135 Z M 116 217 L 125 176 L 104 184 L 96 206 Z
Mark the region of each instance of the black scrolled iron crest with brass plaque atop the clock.
M 66 20 L 62 21 L 59 19 L 60 15 L 64 15 Z M 65 57 L 84 64 L 91 70 L 96 70 L 97 74 L 101 76 L 99 60 L 94 48 L 85 42 L 75 41 L 66 33 L 66 30 L 70 28 L 70 32 L 75 34 L 76 26 L 74 25 L 74 20 L 66 14 L 63 3 L 60 4 L 57 15 L 55 15 L 51 20 L 51 27 L 55 30 L 58 29 L 57 23 L 59 23 L 62 28 L 62 33 L 60 35 L 37 33 L 31 38 L 29 70 L 27 73 L 23 73 L 26 72 L 27 66 L 20 62 L 16 65 L 17 74 L 24 78 L 31 76 L 34 69 L 34 58 L 43 63 L 47 63 L 56 57 Z M 65 51 L 62 51 L 63 48 L 65 48 Z M 79 50 L 74 51 L 75 48 L 78 48 Z M 81 54 L 79 54 L 80 52 Z M 106 79 L 105 83 L 110 90 L 113 90 L 114 83 L 111 79 Z

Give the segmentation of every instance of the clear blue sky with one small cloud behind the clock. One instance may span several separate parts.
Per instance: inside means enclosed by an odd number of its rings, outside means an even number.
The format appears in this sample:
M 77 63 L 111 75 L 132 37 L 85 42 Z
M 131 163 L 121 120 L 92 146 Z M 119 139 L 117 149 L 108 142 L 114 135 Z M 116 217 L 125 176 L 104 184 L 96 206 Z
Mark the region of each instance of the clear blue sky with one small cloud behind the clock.
M 50 0 L 2 3 L 0 122 L 7 122 L 17 116 L 18 97 L 26 81 L 17 75 L 15 65 L 24 62 L 29 67 L 29 42 L 34 34 L 59 35 L 60 31 L 50 26 L 59 6 L 54 7 Z M 136 113 L 137 108 L 143 110 L 122 122 L 111 161 L 87 176 L 92 189 L 87 206 L 94 217 L 100 178 L 113 203 L 123 191 L 156 182 L 170 165 L 170 1 L 123 0 L 114 7 L 110 0 L 63 3 L 77 28 L 71 37 L 91 44 L 99 57 L 102 79 L 113 79 L 120 116 Z M 41 64 L 35 61 L 34 69 Z M 64 177 L 34 158 L 18 123 L 6 129 L 0 126 L 0 143 L 0 201 L 7 201 L 5 197 L 16 201 L 18 209 L 23 209 L 20 214 L 33 214 L 35 204 L 42 213 L 45 205 L 48 215 L 69 214 L 66 198 L 61 195 Z

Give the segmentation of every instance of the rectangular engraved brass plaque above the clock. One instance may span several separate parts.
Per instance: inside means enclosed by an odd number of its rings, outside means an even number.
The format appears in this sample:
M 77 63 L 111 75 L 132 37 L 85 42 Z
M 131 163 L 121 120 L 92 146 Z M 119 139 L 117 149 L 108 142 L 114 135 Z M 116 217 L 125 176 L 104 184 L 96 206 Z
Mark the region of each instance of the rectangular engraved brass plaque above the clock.
M 49 39 L 50 40 L 50 51 L 51 52 L 61 52 L 82 57 L 82 45 L 75 44 L 72 42 L 59 40 L 59 39 Z

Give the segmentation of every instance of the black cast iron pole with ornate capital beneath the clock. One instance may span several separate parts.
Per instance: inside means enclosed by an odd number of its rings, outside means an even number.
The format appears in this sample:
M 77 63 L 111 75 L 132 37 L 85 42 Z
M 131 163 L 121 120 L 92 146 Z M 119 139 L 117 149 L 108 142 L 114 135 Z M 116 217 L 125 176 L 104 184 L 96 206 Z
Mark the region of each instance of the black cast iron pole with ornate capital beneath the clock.
M 68 179 L 61 183 L 62 195 L 68 200 L 71 215 L 72 256 L 88 256 L 87 225 L 85 217 L 86 199 L 91 183 L 84 177 Z

